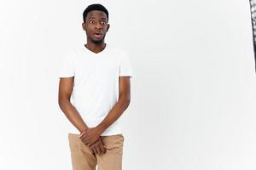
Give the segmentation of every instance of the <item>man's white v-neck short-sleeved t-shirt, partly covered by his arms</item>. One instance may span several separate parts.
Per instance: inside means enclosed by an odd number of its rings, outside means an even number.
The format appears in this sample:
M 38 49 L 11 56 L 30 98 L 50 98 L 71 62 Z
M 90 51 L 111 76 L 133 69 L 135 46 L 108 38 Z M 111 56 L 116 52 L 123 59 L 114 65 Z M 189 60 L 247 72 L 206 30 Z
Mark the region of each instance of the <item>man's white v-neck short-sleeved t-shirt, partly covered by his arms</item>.
M 83 45 L 61 61 L 58 77 L 74 77 L 73 106 L 88 127 L 96 127 L 119 99 L 119 77 L 132 77 L 131 62 L 125 51 L 108 44 L 98 54 Z M 116 121 L 101 135 L 119 133 Z

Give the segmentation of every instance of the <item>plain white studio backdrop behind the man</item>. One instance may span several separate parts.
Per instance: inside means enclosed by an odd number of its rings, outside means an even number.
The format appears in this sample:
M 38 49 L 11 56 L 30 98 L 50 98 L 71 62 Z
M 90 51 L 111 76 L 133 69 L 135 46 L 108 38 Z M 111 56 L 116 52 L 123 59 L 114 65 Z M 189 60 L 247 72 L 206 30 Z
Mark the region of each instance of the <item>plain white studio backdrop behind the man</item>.
M 70 170 L 56 71 L 102 3 L 106 42 L 131 55 L 124 170 L 256 168 L 248 1 L 0 0 L 0 169 Z

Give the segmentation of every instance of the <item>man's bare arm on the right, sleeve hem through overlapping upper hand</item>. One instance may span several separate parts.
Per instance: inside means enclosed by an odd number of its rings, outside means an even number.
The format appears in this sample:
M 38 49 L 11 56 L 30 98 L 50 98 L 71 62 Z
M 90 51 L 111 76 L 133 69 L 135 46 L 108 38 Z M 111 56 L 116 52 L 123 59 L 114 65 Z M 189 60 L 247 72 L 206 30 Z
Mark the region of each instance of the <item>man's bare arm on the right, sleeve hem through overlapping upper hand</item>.
M 104 120 L 96 127 L 88 128 L 80 134 L 80 139 L 86 145 L 94 144 L 96 139 L 123 114 L 130 104 L 130 77 L 119 77 L 119 100 L 113 105 Z

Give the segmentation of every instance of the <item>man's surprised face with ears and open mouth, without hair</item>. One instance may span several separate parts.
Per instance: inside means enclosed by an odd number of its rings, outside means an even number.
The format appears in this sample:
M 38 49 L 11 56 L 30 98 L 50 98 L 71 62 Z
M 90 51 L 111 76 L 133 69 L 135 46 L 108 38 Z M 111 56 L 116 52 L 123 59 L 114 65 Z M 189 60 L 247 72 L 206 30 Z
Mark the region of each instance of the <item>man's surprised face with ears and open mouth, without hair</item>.
M 104 42 L 109 28 L 107 14 L 98 10 L 90 11 L 82 26 L 86 31 L 87 41 L 94 43 Z

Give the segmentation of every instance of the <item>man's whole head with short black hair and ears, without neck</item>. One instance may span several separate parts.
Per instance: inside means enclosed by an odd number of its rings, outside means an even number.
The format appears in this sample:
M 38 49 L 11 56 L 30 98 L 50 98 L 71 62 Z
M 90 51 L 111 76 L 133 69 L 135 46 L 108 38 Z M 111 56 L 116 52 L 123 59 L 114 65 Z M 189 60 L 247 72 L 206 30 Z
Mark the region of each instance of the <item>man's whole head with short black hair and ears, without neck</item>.
M 87 41 L 94 43 L 104 42 L 104 38 L 109 29 L 108 10 L 101 4 L 91 4 L 84 9 L 84 23 Z

